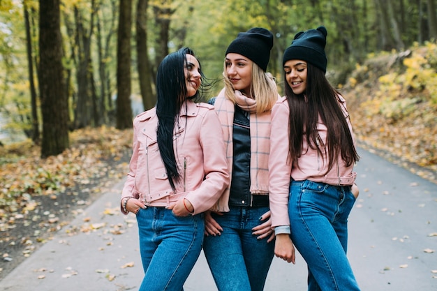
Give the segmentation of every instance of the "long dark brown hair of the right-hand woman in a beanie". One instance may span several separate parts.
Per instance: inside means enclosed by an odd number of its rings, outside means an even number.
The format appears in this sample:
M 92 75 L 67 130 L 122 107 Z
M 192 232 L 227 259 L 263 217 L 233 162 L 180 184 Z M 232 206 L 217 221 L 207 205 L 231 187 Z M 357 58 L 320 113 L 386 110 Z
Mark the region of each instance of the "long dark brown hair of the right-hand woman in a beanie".
M 316 149 L 320 155 L 327 156 L 327 172 L 332 169 L 338 156 L 341 156 L 347 166 L 360 160 L 339 105 L 339 92 L 329 84 L 322 70 L 307 62 L 306 92 L 294 94 L 288 82 L 285 82 L 285 92 L 290 107 L 289 152 L 292 162 L 297 167 L 298 159 L 308 151 L 308 148 L 302 148 L 304 138 L 308 147 Z M 318 135 L 319 116 L 327 127 L 327 144 L 323 144 Z

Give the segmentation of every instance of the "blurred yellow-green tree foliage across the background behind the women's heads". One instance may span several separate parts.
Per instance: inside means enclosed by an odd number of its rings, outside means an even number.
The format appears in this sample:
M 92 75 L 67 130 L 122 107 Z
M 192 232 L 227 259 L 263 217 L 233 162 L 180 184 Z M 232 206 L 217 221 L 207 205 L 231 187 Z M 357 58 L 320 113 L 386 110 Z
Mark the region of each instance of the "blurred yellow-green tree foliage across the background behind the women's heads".
M 408 22 L 399 23 L 402 29 L 402 41 L 406 45 L 413 45 L 420 38 L 419 23 L 424 21 L 416 2 L 403 1 L 403 6 L 397 1 L 391 1 L 395 15 L 399 15 L 397 21 L 408 19 Z M 0 5 L 0 112 L 6 114 L 10 119 L 13 128 L 29 130 L 30 128 L 30 93 L 27 72 L 27 55 L 25 47 L 25 31 L 23 17 L 23 3 L 29 8 L 32 25 L 33 58 L 38 64 L 38 1 L 37 0 L 2 0 Z M 115 37 L 108 37 L 117 29 L 117 5 L 119 0 L 96 1 L 98 17 L 94 19 L 94 29 L 97 22 L 100 24 L 103 45 L 103 63 L 108 66 L 108 95 L 116 94 L 116 54 L 117 46 Z M 151 70 L 156 72 L 156 47 L 154 43 L 159 38 L 156 25 L 154 7 L 168 7 L 174 11 L 167 17 L 170 20 L 170 40 L 168 46 L 170 51 L 177 50 L 178 46 L 186 45 L 192 47 L 202 61 L 202 69 L 205 75 L 212 80 L 217 80 L 218 91 L 221 87 L 223 71 L 223 57 L 226 47 L 237 36 L 240 31 L 246 31 L 251 27 L 265 27 L 270 29 L 274 35 L 274 48 L 272 59 L 268 70 L 276 76 L 279 83 L 282 74 L 282 52 L 290 45 L 293 36 L 298 31 L 311 29 L 325 25 L 328 30 L 327 56 L 329 75 L 333 76 L 336 83 L 343 84 L 348 80 L 350 64 L 358 63 L 364 68 L 363 63 L 367 57 L 380 54 L 382 33 L 380 28 L 381 11 L 375 6 L 374 1 L 281 1 L 281 0 L 254 0 L 254 1 L 200 1 L 200 0 L 149 0 L 148 9 L 148 45 L 151 60 Z M 134 6 L 135 8 L 135 1 Z M 403 10 L 401 8 L 403 7 Z M 75 16 L 77 10 L 77 18 Z M 401 17 L 401 13 L 403 16 Z M 80 20 L 85 31 L 90 27 L 91 1 L 87 0 L 66 0 L 61 5 L 61 33 L 64 38 L 64 68 L 70 74 L 68 80 L 68 98 L 71 104 L 71 119 L 74 118 L 75 102 L 77 100 L 77 66 L 78 56 L 81 54 L 75 29 Z M 133 11 L 135 17 L 135 9 Z M 112 23 L 114 27 L 112 27 Z M 134 22 L 135 23 L 135 22 Z M 134 27 L 132 29 L 135 29 Z M 89 32 L 89 31 L 88 31 Z M 388 31 L 392 33 L 392 31 Z M 94 82 L 96 88 L 100 88 L 100 75 L 98 75 L 98 38 L 94 31 L 91 40 L 91 61 L 94 68 Z M 135 31 L 133 31 L 135 36 Z M 108 37 L 108 38 L 107 38 Z M 108 43 L 106 43 L 108 42 Z M 133 50 L 135 50 L 135 38 L 132 39 Z M 106 45 L 108 45 L 106 47 Z M 421 44 L 422 45 L 422 44 Z M 434 45 L 434 48 L 432 46 Z M 406 82 L 410 90 L 420 92 L 425 90 L 433 105 L 437 104 L 436 84 L 427 82 L 435 80 L 432 68 L 437 63 L 435 44 L 427 43 L 429 53 L 423 56 L 427 59 L 427 68 L 423 66 L 418 72 L 412 65 L 408 67 L 408 73 L 403 77 L 393 79 L 395 84 L 381 84 L 382 91 L 387 94 L 404 94 L 397 84 Z M 388 54 L 388 52 L 387 52 Z M 135 53 L 132 54 L 132 77 L 134 95 L 138 95 L 139 87 L 136 78 Z M 384 63 L 380 63 L 384 64 Z M 383 68 L 381 68 L 383 69 Z M 333 71 L 336 72 L 333 72 Z M 367 77 L 376 73 L 368 70 Z M 373 74 L 373 75 L 372 75 Z M 350 78 L 350 84 L 360 82 L 360 78 Z M 402 79 L 403 78 L 403 79 Z M 35 76 L 37 81 L 37 77 Z M 426 84 L 424 84 L 426 82 Z M 38 84 L 37 84 L 38 86 Z M 38 92 L 38 88 L 37 88 Z M 216 93 L 216 92 L 215 92 Z M 388 101 L 387 101 L 388 102 Z M 384 104 L 388 104 L 385 102 Z M 403 103 L 402 103 L 403 104 Z M 105 103 L 109 107 L 108 104 Z M 390 107 L 390 106 L 388 106 Z M 397 105 L 394 107 L 403 107 Z M 390 110 L 389 110 L 390 111 Z M 387 114 L 387 110 L 384 110 Z M 399 114 L 394 114 L 399 116 Z

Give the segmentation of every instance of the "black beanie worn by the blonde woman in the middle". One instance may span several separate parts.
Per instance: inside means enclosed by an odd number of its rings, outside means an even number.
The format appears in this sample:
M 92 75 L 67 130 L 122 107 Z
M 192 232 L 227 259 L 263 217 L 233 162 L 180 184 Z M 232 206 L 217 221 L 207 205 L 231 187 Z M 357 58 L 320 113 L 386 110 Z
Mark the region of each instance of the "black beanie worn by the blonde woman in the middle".
M 225 55 L 231 52 L 241 54 L 266 71 L 272 47 L 273 33 L 261 27 L 254 27 L 246 32 L 238 33 L 237 38 L 230 43 Z

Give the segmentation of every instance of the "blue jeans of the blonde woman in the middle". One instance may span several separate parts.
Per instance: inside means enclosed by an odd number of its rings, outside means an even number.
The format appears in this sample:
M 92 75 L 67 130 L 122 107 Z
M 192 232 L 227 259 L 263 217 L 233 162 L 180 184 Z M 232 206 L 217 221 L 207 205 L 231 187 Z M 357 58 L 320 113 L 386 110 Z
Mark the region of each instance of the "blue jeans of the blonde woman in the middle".
M 230 207 L 212 217 L 221 235 L 205 237 L 203 251 L 219 291 L 261 291 L 274 256 L 274 242 L 257 239 L 252 228 L 260 225 L 268 207 Z

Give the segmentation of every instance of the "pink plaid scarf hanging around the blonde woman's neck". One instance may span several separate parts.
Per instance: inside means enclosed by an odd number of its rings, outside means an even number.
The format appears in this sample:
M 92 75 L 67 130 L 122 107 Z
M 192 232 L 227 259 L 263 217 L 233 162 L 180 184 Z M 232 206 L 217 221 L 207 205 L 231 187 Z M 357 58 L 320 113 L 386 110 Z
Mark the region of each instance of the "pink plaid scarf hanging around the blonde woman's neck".
M 223 138 L 226 144 L 226 158 L 228 160 L 229 176 L 232 177 L 232 128 L 234 124 L 235 105 L 225 97 L 223 89 L 217 96 L 214 107 L 223 129 Z M 256 100 L 248 98 L 235 91 L 237 105 L 250 113 L 251 124 L 251 188 L 252 194 L 268 195 L 269 172 L 268 161 L 270 152 L 270 114 L 271 110 L 256 113 Z M 232 181 L 231 181 L 232 183 Z M 228 201 L 230 185 L 221 195 L 212 211 L 229 211 Z

